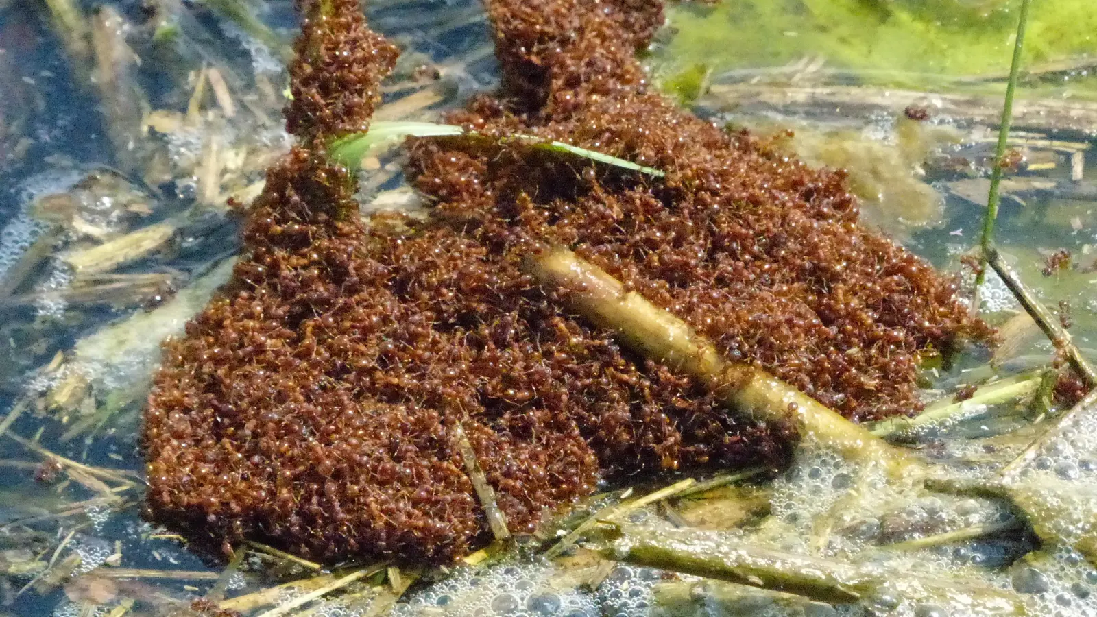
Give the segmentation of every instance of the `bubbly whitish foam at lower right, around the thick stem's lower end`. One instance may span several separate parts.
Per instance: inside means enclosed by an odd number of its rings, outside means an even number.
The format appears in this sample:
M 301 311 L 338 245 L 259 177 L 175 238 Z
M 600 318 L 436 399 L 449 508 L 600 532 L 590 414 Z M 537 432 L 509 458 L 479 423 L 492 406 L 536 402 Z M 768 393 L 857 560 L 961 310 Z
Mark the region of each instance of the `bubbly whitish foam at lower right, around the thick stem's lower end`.
M 720 583 L 693 580 L 693 588 L 700 591 L 693 594 L 692 607 L 700 615 L 989 617 L 1013 614 L 1019 606 L 1026 615 L 1097 617 L 1097 569 L 1067 543 L 1090 531 L 1088 526 L 1097 520 L 1097 465 L 1082 463 L 1097 460 L 1097 440 L 1092 436 L 1097 436 L 1097 420 L 1081 419 L 1052 440 L 1043 457 L 1032 461 L 1032 471 L 1022 474 L 1045 487 L 1037 492 L 1049 501 L 1043 507 L 1064 513 L 1054 532 L 1067 540 L 1045 541 L 1040 552 L 1029 552 L 1034 547 L 1021 535 L 889 548 L 893 542 L 1010 521 L 1016 511 L 1003 500 L 929 493 L 920 481 L 890 478 L 880 467 L 851 462 L 810 440 L 800 446 L 791 469 L 773 482 L 772 516 L 758 528 L 699 536 L 654 516 L 641 523 L 660 534 L 661 542 L 706 558 L 734 556 L 749 545 L 855 564 L 884 581 L 870 597 L 832 607 L 742 587 L 709 593 L 705 590 Z M 963 476 L 965 471 L 946 474 Z M 975 474 L 968 471 L 968 476 Z M 1067 483 L 1068 490 L 1063 486 Z

